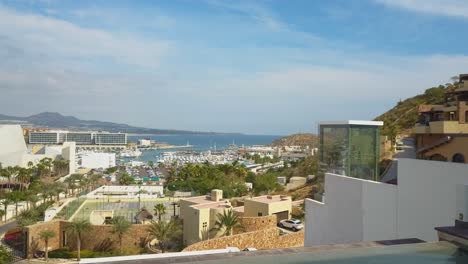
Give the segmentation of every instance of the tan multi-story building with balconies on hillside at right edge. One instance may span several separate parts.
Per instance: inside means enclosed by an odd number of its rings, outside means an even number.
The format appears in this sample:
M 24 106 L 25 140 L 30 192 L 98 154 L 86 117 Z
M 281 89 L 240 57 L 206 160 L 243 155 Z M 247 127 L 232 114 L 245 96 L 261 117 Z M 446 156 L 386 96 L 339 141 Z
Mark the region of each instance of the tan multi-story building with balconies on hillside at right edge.
M 466 163 L 468 157 L 468 74 L 446 93 L 443 105 L 421 105 L 414 127 L 417 157 Z

